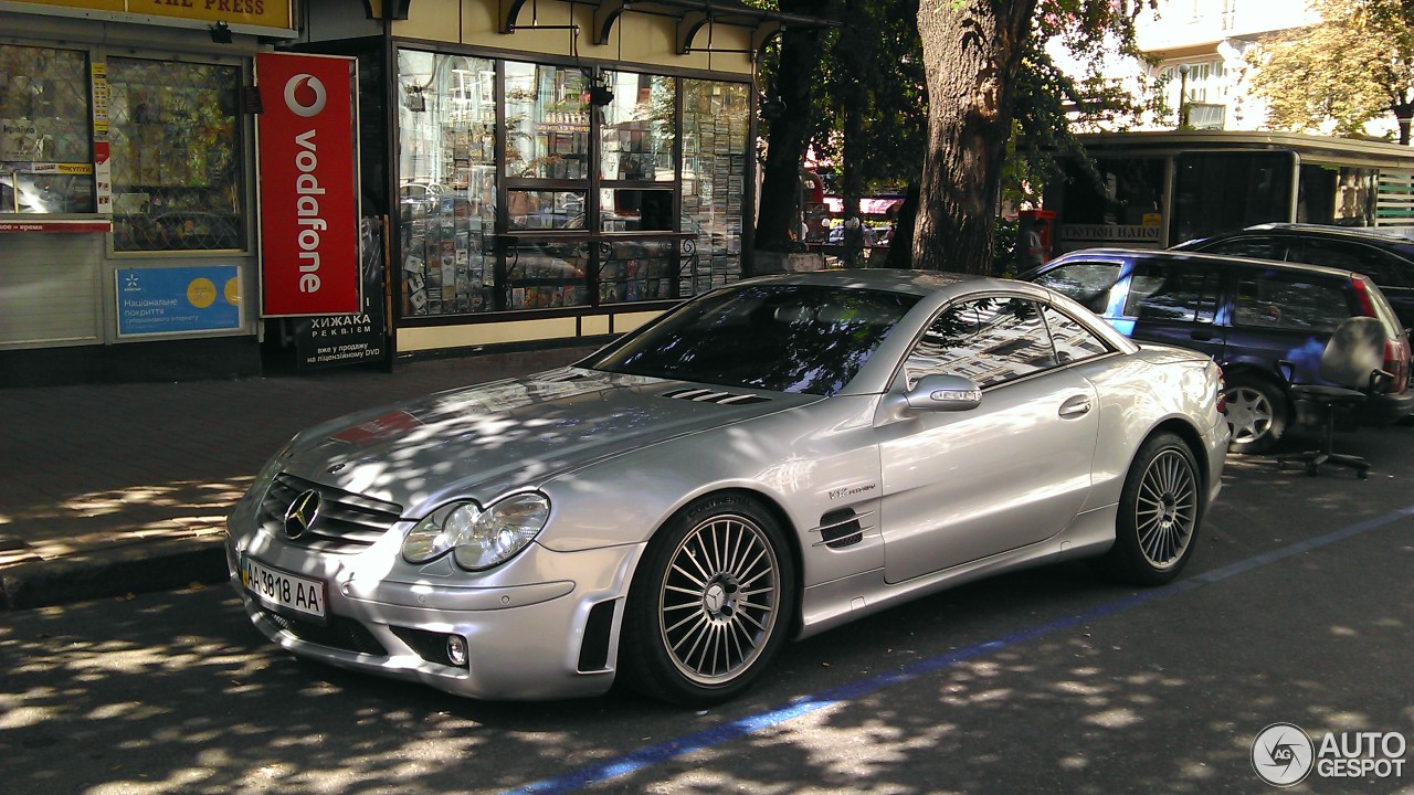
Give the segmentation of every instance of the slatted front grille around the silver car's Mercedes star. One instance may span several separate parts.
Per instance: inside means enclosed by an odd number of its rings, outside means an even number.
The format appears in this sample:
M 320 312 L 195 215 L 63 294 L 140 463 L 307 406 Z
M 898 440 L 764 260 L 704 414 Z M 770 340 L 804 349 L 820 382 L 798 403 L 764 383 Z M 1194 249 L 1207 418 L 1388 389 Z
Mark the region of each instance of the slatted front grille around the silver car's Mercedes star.
M 308 530 L 298 539 L 291 539 L 284 532 L 284 515 L 305 491 L 320 494 L 320 511 Z M 393 502 L 280 474 L 260 504 L 260 523 L 287 543 L 321 552 L 358 552 L 383 538 L 402 512 L 403 506 Z

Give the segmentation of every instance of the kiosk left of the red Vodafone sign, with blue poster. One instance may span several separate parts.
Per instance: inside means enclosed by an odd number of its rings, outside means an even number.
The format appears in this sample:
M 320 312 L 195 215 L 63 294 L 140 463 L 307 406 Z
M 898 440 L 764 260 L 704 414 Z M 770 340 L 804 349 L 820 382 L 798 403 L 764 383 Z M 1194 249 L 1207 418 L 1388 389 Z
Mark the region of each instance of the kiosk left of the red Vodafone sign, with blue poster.
M 0 383 L 259 372 L 242 8 L 0 3 Z

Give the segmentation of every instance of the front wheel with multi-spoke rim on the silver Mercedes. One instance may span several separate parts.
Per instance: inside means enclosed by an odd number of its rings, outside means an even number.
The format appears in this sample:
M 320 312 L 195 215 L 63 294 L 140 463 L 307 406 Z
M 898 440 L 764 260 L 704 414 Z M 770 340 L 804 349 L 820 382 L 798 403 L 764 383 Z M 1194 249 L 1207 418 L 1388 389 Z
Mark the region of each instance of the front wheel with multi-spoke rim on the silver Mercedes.
M 795 563 L 775 518 L 747 495 L 700 498 L 659 530 L 633 574 L 622 683 L 684 706 L 732 699 L 781 651 L 795 605 Z

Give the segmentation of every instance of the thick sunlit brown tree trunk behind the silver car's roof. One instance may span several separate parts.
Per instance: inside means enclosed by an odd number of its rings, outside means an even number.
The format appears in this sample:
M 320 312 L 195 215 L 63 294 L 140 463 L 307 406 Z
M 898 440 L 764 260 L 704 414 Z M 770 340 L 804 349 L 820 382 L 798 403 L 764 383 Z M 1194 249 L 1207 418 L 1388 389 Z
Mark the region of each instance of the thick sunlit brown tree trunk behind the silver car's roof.
M 1036 0 L 919 0 L 928 154 L 913 266 L 991 273 L 1012 95 Z

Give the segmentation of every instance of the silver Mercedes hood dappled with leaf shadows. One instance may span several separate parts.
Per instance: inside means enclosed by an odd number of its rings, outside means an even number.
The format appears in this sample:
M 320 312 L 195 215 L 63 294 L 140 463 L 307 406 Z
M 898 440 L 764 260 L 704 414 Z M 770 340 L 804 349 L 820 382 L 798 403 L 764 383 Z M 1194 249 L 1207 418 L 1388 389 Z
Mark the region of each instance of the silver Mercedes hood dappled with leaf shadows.
M 819 400 L 561 368 L 438 392 L 301 433 L 281 470 L 420 518 L 591 461 Z

